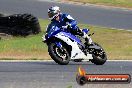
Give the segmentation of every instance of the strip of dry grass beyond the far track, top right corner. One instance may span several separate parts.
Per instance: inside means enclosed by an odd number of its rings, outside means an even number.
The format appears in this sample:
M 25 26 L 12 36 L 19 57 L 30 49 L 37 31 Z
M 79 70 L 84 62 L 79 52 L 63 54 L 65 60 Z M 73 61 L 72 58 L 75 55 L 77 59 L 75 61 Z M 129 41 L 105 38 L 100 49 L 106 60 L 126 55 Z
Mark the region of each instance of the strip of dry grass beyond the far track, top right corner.
M 132 0 L 64 0 L 64 1 L 132 8 Z

